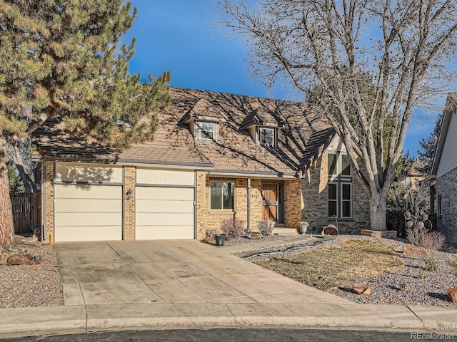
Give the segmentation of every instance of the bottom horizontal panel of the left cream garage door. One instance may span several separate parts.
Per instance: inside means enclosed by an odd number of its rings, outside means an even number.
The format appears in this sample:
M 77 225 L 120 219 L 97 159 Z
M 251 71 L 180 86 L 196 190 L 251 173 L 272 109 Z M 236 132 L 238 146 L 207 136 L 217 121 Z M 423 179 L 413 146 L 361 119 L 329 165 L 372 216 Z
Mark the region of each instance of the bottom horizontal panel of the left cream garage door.
M 69 227 L 61 226 L 56 231 L 56 241 L 112 241 L 121 240 L 122 232 L 118 226 Z

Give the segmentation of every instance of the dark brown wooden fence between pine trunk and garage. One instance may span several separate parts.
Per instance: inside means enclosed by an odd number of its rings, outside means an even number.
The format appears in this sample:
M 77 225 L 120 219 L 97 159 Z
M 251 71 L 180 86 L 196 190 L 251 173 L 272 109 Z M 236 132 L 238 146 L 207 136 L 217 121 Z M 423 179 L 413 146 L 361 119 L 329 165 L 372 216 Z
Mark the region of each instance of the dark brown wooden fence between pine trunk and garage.
M 41 193 L 24 194 L 11 192 L 14 232 L 33 232 L 41 227 Z

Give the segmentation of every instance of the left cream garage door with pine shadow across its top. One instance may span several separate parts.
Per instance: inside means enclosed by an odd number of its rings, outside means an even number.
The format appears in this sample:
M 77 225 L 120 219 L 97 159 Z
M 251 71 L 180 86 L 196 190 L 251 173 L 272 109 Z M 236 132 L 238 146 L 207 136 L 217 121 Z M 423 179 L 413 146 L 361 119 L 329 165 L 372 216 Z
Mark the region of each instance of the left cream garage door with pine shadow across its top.
M 59 163 L 55 182 L 56 242 L 122 239 L 121 168 Z

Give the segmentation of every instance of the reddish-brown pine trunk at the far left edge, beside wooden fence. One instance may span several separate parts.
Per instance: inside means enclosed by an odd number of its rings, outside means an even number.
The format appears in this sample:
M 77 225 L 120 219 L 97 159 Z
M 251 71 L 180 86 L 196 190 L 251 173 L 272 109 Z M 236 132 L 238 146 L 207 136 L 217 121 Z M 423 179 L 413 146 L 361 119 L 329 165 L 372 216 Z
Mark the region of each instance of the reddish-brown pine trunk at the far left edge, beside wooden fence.
M 13 210 L 9 197 L 8 170 L 6 169 L 6 142 L 0 138 L 0 252 L 9 249 L 14 238 Z

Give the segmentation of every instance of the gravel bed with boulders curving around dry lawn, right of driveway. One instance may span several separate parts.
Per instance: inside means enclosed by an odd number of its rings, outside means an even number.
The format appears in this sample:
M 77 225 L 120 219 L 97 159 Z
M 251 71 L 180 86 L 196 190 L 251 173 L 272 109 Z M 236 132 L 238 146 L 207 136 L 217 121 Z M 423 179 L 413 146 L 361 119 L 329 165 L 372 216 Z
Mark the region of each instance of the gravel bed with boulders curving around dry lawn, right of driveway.
M 426 271 L 423 267 L 423 259 L 418 254 L 403 254 L 403 247 L 411 245 L 406 240 L 378 239 L 353 235 L 341 235 L 338 239 L 313 237 L 305 242 L 268 247 L 261 250 L 255 249 L 236 255 L 249 261 L 281 258 L 305 250 L 335 244 L 347 239 L 391 244 L 396 247 L 394 253 L 401 258 L 405 267 L 396 269 L 390 273 L 354 281 L 371 286 L 371 296 L 353 294 L 351 291 L 353 282 L 341 284 L 326 291 L 361 304 L 449 306 L 457 308 L 457 304 L 449 301 L 446 295 L 448 287 L 457 287 L 457 247 L 451 244 L 446 244 L 442 252 L 436 252 L 438 271 Z M 331 260 L 326 260 L 326 262 L 331 262 Z M 312 272 L 313 269 L 311 268 L 309 271 Z

